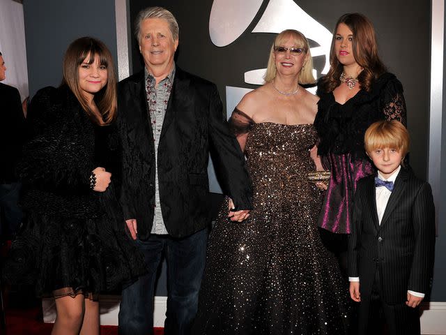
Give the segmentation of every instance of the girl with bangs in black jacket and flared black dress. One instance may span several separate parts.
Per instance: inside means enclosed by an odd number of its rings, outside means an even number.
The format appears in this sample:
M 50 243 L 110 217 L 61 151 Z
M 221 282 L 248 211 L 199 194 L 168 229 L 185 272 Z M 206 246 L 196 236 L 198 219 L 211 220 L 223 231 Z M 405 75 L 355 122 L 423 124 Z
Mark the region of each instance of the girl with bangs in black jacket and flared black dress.
M 55 298 L 52 334 L 99 334 L 99 293 L 144 271 L 115 195 L 115 116 L 112 55 L 79 38 L 65 54 L 61 86 L 40 89 L 29 105 L 18 169 L 26 221 L 3 269 L 8 282 Z

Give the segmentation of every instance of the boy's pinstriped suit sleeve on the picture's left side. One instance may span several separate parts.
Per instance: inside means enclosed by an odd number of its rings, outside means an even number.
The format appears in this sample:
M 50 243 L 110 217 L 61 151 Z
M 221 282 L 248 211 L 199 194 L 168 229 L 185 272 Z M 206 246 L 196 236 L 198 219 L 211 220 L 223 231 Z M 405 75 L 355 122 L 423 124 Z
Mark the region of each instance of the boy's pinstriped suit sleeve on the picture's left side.
M 362 230 L 362 183 L 358 183 L 353 203 L 353 221 L 351 224 L 351 232 L 348 235 L 348 276 L 359 277 L 357 268 L 357 258 L 360 249 L 360 234 Z

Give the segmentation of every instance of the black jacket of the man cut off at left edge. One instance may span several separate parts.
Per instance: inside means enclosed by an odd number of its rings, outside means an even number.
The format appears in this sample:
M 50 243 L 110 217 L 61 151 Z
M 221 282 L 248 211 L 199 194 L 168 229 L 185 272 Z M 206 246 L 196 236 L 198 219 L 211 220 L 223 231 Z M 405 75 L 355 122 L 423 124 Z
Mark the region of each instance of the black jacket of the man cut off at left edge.
M 0 83 L 0 184 L 17 181 L 15 165 L 25 140 L 24 120 L 19 91 Z

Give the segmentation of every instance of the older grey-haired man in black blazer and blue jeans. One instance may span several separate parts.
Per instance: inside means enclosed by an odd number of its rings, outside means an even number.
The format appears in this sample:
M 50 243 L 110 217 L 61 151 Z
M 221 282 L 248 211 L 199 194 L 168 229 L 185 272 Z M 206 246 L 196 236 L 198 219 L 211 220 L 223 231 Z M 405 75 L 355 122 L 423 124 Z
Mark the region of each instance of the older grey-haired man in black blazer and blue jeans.
M 174 15 L 161 7 L 141 10 L 135 34 L 145 67 L 118 85 L 121 204 L 148 274 L 123 290 L 119 332 L 153 334 L 155 278 L 166 255 L 164 334 L 186 335 L 197 313 L 211 220 L 209 152 L 231 198 L 231 220 L 247 217 L 252 186 L 217 87 L 175 64 L 179 29 Z

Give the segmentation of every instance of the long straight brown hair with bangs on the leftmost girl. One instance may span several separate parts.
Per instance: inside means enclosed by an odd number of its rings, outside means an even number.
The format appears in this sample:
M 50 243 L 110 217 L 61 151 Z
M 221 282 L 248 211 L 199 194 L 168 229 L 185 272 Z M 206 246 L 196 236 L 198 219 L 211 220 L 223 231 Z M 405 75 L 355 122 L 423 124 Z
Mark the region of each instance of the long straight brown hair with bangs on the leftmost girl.
M 90 110 L 89 102 L 82 94 L 79 84 L 79 66 L 84 61 L 93 64 L 96 57 L 98 57 L 99 64 L 107 68 L 107 84 L 95 94 L 94 101 L 102 115 L 102 120 L 105 124 L 109 124 L 116 117 L 118 104 L 116 102 L 116 73 L 113 57 L 104 43 L 92 37 L 82 37 L 72 42 L 63 58 L 62 84 L 66 84 L 70 88 L 90 119 L 96 124 L 100 124 L 98 118 Z

